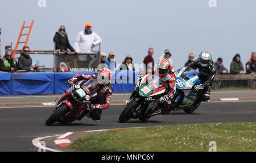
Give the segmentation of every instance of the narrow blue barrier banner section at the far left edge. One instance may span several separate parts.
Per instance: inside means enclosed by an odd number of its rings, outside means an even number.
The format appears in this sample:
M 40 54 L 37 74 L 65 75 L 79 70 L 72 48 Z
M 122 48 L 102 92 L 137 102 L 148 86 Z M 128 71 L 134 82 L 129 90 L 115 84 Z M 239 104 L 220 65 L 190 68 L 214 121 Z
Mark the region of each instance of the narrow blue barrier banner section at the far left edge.
M 11 73 L 0 73 L 0 95 L 11 95 Z

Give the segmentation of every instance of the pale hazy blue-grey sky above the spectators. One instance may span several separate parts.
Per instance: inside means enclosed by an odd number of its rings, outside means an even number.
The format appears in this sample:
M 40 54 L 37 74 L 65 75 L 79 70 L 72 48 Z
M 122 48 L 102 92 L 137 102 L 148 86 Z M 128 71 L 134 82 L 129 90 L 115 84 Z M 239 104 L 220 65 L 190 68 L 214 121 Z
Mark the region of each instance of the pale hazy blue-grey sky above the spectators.
M 209 7 L 209 0 L 46 0 L 46 7 L 39 7 L 38 0 L 1 0 L 1 52 L 11 42 L 15 46 L 23 20 L 35 21 L 28 40 L 32 50 L 53 50 L 52 39 L 61 25 L 73 46 L 78 32 L 91 22 L 102 38 L 102 52 L 114 52 L 117 63 L 131 55 L 141 64 L 152 47 L 155 62 L 169 49 L 175 69 L 184 65 L 189 52 L 198 56 L 201 51 L 212 53 L 214 61 L 222 57 L 227 69 L 240 53 L 245 66 L 256 51 L 256 1 L 216 1 L 217 7 Z M 53 67 L 51 55 L 31 57 Z

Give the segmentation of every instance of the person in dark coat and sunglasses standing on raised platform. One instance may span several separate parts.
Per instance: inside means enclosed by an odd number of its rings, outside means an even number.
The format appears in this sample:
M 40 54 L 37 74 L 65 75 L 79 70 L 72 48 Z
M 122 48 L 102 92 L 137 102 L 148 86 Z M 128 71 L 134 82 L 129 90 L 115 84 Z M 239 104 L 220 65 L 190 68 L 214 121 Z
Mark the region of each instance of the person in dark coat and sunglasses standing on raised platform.
M 53 37 L 53 42 L 55 42 L 55 49 L 60 49 L 61 52 L 68 51 L 75 52 L 75 49 L 71 47 L 68 40 L 68 34 L 65 31 L 64 26 L 60 26 L 59 31 L 55 33 Z

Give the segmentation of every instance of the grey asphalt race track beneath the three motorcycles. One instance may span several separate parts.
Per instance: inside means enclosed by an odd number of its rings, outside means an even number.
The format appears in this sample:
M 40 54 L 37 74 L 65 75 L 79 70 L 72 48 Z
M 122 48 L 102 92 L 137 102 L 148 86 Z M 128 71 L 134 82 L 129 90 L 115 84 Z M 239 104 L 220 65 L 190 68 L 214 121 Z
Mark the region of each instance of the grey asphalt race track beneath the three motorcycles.
M 122 127 L 143 127 L 165 124 L 192 124 L 213 122 L 255 122 L 256 102 L 202 103 L 195 114 L 183 111 L 170 115 L 157 115 L 146 123 L 132 119 L 129 123 L 119 123 L 118 117 L 123 106 L 111 106 L 104 110 L 100 122 L 84 118 L 80 122 L 69 124 L 56 123 L 46 126 L 45 121 L 52 113 L 52 107 L 36 108 L 0 108 L 0 151 L 37 151 L 32 145 L 36 137 L 64 134 L 66 132 L 90 129 L 108 129 Z

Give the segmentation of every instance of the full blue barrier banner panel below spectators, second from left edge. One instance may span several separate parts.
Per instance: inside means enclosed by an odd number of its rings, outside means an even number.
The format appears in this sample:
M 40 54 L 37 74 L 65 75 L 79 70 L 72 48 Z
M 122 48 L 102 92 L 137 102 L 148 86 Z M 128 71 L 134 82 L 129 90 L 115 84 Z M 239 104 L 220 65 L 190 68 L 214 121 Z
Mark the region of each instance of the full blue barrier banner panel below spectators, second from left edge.
M 54 94 L 54 73 L 12 73 L 11 94 Z

